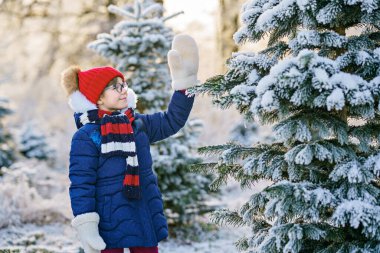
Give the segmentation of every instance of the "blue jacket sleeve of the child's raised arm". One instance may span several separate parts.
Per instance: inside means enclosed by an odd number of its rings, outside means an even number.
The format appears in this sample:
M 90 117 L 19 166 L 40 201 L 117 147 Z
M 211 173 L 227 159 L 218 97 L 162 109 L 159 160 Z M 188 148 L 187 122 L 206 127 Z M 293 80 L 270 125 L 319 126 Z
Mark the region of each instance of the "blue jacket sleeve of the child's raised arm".
M 154 143 L 177 133 L 186 124 L 193 103 L 194 96 L 188 97 L 175 91 L 165 112 L 138 114 L 144 122 L 149 142 Z

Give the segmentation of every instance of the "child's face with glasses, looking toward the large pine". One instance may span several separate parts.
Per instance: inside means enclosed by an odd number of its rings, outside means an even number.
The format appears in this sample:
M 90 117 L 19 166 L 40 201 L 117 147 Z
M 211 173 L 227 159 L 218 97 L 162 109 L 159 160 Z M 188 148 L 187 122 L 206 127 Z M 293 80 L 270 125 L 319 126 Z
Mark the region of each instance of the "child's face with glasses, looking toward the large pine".
M 99 109 L 112 112 L 124 109 L 128 106 L 128 87 L 126 86 L 126 83 L 123 83 L 123 80 L 120 77 L 117 77 L 117 80 L 115 81 L 111 81 L 104 89 L 103 94 L 100 96 L 97 103 Z M 124 88 L 123 85 L 125 85 Z

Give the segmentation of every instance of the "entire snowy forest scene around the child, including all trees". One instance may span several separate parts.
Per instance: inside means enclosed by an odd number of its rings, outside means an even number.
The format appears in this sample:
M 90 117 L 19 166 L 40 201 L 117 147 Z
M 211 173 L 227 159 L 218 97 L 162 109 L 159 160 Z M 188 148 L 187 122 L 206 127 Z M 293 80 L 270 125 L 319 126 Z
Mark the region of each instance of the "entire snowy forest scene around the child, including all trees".
M 69 225 L 75 124 L 62 69 L 118 66 L 140 110 L 162 110 L 177 33 L 198 42 L 204 85 L 187 126 L 152 149 L 171 226 L 160 252 L 380 252 L 379 2 L 137 2 L 0 1 L 0 252 L 81 252 Z M 157 3 L 165 10 L 146 18 L 184 13 L 107 35 L 123 20 L 107 6 L 134 15 Z M 149 50 L 112 50 L 144 29 L 157 34 L 148 46 L 165 38 L 152 47 L 160 79 L 144 70 Z

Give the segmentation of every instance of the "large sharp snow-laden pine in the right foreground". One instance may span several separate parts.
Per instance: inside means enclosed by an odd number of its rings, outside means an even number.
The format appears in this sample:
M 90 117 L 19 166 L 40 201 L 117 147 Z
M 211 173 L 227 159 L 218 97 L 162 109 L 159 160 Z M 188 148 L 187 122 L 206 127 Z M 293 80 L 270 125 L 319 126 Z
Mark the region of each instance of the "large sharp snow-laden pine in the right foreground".
M 244 187 L 273 182 L 219 223 L 246 225 L 249 252 L 380 252 L 380 3 L 250 0 L 224 75 L 192 90 L 221 108 L 273 124 L 272 144 L 201 148 L 198 166 Z M 231 93 L 231 90 L 235 92 Z

